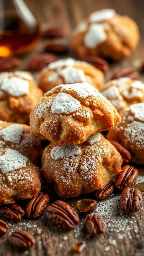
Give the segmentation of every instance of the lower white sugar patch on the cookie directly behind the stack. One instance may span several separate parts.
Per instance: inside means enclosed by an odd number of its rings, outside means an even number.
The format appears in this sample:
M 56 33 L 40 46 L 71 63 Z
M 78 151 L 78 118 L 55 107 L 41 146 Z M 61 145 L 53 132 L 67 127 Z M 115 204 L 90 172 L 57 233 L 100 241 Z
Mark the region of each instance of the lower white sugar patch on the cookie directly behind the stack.
M 66 67 L 59 74 L 64 78 L 65 83 L 84 82 L 85 75 L 82 69 Z

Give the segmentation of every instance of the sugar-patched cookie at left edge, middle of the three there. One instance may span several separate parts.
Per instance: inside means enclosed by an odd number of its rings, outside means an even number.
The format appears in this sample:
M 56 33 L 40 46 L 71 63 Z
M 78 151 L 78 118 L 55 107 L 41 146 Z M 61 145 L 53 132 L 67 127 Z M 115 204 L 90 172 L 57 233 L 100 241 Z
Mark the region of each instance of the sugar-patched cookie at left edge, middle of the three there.
M 0 148 L 11 148 L 36 164 L 41 153 L 41 141 L 30 136 L 30 126 L 26 124 L 0 121 Z

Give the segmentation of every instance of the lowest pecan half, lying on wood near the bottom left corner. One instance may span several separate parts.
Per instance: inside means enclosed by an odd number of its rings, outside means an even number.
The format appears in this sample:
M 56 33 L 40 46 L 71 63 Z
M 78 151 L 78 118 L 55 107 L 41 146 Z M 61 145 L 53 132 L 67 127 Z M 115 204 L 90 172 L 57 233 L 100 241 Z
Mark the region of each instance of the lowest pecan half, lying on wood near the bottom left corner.
M 15 230 L 8 240 L 20 249 L 29 249 L 36 242 L 35 238 L 24 230 Z

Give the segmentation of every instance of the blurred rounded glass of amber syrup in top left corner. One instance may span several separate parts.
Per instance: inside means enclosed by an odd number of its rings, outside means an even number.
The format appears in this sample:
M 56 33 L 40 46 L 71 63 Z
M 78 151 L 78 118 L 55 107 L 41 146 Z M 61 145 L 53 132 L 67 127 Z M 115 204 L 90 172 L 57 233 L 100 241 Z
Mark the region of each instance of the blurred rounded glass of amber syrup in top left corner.
M 23 0 L 0 0 L 0 57 L 33 49 L 39 35 L 38 22 Z

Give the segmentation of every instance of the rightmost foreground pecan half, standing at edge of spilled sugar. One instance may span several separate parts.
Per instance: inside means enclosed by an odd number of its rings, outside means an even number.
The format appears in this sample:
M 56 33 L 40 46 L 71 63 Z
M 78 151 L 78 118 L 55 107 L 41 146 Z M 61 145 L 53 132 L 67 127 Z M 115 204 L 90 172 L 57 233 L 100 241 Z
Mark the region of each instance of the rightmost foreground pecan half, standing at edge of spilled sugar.
M 142 195 L 137 188 L 125 188 L 120 197 L 120 207 L 123 211 L 138 211 L 142 204 Z

